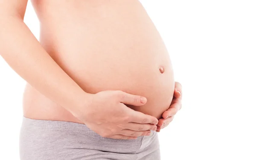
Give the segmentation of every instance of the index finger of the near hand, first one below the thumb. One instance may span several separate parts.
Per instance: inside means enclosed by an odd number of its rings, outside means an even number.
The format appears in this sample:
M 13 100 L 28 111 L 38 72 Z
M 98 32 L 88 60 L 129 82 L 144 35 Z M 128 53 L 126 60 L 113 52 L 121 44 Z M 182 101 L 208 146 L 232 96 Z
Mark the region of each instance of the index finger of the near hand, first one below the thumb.
M 134 111 L 132 109 L 128 121 L 140 124 L 151 123 L 154 125 L 157 125 L 158 123 L 158 119 L 156 117 L 144 114 L 139 111 Z

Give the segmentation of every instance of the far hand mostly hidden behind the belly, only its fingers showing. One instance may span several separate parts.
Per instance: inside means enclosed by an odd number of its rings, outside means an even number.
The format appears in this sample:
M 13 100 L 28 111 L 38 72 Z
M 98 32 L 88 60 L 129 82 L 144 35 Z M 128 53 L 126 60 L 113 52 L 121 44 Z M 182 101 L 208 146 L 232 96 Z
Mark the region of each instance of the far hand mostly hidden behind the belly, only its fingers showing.
M 181 99 L 182 99 L 182 86 L 179 82 L 176 81 L 172 103 L 169 109 L 163 112 L 162 114 L 163 118 L 158 120 L 157 132 L 160 132 L 160 129 L 165 128 L 167 125 L 169 125 L 170 122 L 172 122 L 175 114 L 181 108 Z

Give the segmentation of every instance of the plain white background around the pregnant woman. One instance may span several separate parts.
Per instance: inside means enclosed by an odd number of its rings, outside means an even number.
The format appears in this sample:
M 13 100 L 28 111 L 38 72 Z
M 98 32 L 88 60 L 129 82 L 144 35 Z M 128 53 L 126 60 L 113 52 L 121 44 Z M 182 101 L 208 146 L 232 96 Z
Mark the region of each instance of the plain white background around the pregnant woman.
M 162 160 L 256 160 L 255 0 L 141 0 L 183 85 Z M 25 23 L 39 36 L 28 3 Z M 0 160 L 19 159 L 25 81 L 0 57 Z

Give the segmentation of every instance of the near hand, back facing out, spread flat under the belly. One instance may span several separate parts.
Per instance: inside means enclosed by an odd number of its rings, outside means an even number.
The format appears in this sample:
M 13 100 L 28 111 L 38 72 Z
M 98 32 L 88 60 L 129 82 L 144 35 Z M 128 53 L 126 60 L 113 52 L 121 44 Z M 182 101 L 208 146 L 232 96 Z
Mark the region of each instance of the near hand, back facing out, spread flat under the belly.
M 90 94 L 86 99 L 87 104 L 80 106 L 74 116 L 102 137 L 136 139 L 157 130 L 157 118 L 124 105 L 144 105 L 145 97 L 108 90 Z

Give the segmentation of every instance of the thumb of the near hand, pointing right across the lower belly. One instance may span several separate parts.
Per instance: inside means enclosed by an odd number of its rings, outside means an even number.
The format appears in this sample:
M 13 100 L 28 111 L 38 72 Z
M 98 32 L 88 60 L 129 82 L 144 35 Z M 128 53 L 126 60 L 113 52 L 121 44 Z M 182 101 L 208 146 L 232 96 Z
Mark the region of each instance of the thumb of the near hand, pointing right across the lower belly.
M 140 106 L 144 105 L 147 102 L 147 99 L 143 96 L 137 96 L 125 92 L 121 92 L 119 94 L 119 101 L 126 105 Z

